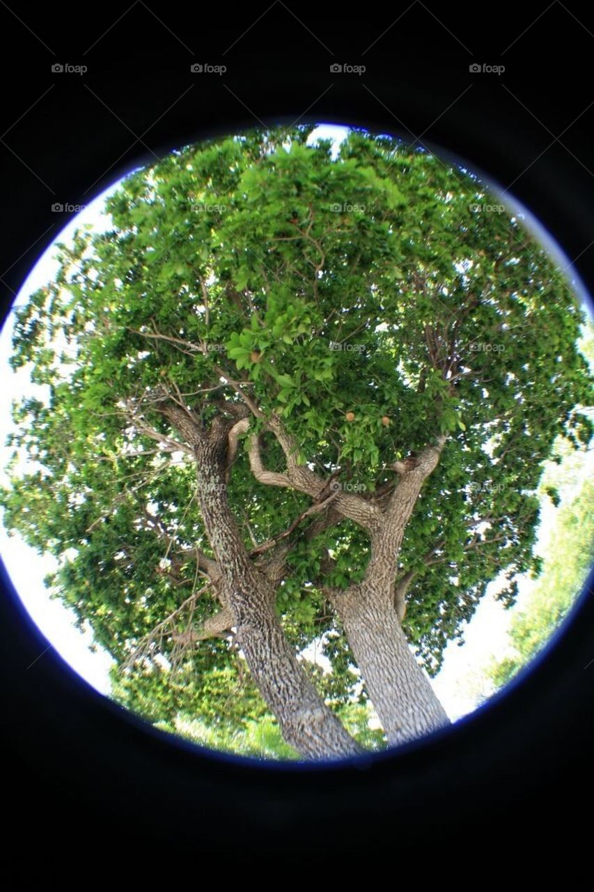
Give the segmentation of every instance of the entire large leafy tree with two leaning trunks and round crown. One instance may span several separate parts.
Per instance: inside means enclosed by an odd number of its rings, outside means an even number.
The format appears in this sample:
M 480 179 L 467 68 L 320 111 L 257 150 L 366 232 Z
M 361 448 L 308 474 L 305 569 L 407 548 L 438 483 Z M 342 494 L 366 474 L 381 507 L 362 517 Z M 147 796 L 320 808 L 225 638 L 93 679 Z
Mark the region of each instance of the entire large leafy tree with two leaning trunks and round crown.
M 212 710 L 247 665 L 246 720 L 261 696 L 320 757 L 359 751 L 358 698 L 390 743 L 448 723 L 426 673 L 488 582 L 538 572 L 541 463 L 590 441 L 592 380 L 579 301 L 478 178 L 311 129 L 171 153 L 60 246 L 15 329 L 46 397 L 3 502 L 124 702 L 167 721 L 177 672 Z

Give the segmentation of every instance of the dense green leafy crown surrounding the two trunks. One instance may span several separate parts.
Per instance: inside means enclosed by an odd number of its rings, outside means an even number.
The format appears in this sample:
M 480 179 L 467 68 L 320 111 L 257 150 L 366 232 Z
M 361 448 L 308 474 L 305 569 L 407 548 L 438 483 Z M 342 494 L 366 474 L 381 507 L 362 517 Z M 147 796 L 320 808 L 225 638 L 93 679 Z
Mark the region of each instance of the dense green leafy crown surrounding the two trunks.
M 417 571 L 405 628 L 429 673 L 492 579 L 507 574 L 511 603 L 516 575 L 538 569 L 542 462 L 558 435 L 590 440 L 584 314 L 521 221 L 477 211 L 483 184 L 431 154 L 354 131 L 333 160 L 310 130 L 220 138 L 136 171 L 107 201 L 111 227 L 62 244 L 55 281 L 18 311 L 12 367 L 43 396 L 14 408 L 29 468 L 0 493 L 4 524 L 59 559 L 48 583 L 118 665 L 194 591 L 195 549 L 211 554 L 192 458 L 151 402 L 161 384 L 208 420 L 205 394 L 241 380 L 302 462 L 369 498 L 396 458 L 450 435 L 395 568 Z M 264 458 L 282 467 L 269 435 Z M 244 450 L 228 494 L 248 547 L 309 504 L 257 483 Z M 321 585 L 360 579 L 368 540 L 343 522 L 306 545 L 312 522 L 292 535 L 277 609 L 295 647 L 326 636 L 334 673 L 317 681 L 339 710 L 358 680 Z M 216 609 L 204 592 L 193 622 Z M 114 696 L 171 727 L 199 715 L 227 742 L 263 721 L 226 640 L 195 648 L 181 686 L 156 658 L 173 646 L 162 637 Z

